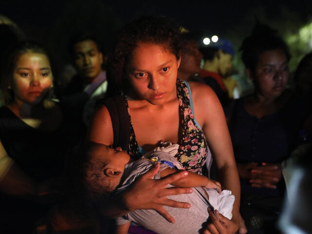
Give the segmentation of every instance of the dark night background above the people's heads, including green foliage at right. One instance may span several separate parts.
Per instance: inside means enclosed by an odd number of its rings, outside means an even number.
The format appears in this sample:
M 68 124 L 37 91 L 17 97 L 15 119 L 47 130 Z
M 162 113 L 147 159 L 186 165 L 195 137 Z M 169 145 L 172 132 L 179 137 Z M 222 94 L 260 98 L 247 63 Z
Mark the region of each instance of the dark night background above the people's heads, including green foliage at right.
M 66 44 L 78 31 L 95 33 L 109 51 L 116 30 L 141 15 L 164 15 L 176 19 L 190 31 L 205 32 L 230 40 L 237 52 L 255 18 L 278 29 L 288 41 L 301 27 L 312 22 L 312 1 L 222 1 L 222 0 L 2 0 L 0 15 L 13 20 L 27 38 L 45 44 L 53 53 L 60 70 L 69 63 Z M 311 34 L 312 35 L 312 34 Z M 296 40 L 300 40 L 296 39 Z M 293 70 L 311 48 L 296 48 L 292 40 Z M 300 44 L 300 43 L 299 43 Z M 307 47 L 307 48 L 306 48 Z M 234 66 L 241 67 L 239 56 Z

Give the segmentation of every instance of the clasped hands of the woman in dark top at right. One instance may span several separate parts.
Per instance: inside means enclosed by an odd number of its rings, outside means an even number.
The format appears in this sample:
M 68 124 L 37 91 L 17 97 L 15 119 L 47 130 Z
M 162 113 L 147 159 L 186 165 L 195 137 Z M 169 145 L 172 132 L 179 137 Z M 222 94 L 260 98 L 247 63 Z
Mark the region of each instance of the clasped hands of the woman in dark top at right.
M 251 170 L 252 178 L 249 181 L 255 188 L 276 189 L 276 184 L 282 178 L 282 170 L 280 164 L 262 163 Z

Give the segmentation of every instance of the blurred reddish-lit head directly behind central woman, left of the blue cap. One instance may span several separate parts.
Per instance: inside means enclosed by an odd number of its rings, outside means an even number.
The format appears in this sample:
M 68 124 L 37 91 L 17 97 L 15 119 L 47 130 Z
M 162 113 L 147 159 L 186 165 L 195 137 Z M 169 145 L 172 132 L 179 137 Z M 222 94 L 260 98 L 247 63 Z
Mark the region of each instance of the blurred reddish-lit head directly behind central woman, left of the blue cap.
M 183 32 L 181 38 L 184 40 L 181 63 L 177 70 L 177 77 L 183 80 L 193 80 L 194 75 L 200 72 L 200 64 L 203 55 L 198 50 L 195 33 Z

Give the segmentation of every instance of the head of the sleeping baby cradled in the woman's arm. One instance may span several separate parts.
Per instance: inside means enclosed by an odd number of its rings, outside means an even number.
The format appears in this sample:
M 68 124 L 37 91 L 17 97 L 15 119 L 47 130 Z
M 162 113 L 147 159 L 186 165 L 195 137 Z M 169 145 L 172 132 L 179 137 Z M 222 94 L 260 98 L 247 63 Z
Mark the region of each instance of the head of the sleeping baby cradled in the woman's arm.
M 117 187 L 130 159 L 120 147 L 113 149 L 95 142 L 78 145 L 68 156 L 68 193 L 89 201 L 109 195 Z

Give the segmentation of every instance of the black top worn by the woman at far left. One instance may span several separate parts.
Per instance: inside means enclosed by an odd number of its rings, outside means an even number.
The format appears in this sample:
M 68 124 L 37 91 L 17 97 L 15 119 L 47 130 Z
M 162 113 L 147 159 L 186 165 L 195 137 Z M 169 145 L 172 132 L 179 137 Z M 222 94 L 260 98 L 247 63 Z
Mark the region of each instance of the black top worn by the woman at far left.
M 0 140 L 9 157 L 21 170 L 37 182 L 61 174 L 66 143 L 59 127 L 53 132 L 41 132 L 8 107 L 0 108 Z

